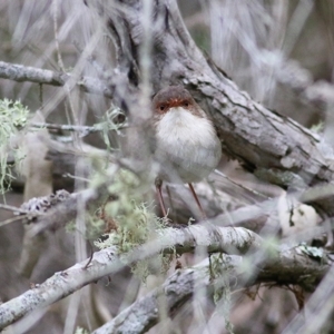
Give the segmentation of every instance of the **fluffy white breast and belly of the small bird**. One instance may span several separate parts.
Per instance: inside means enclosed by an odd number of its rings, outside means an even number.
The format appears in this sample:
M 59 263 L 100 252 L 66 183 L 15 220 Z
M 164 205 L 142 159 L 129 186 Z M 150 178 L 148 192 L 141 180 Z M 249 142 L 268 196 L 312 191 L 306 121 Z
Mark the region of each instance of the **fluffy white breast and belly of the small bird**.
M 213 124 L 184 108 L 170 108 L 157 126 L 156 158 L 160 178 L 194 183 L 208 176 L 222 157 L 220 141 Z

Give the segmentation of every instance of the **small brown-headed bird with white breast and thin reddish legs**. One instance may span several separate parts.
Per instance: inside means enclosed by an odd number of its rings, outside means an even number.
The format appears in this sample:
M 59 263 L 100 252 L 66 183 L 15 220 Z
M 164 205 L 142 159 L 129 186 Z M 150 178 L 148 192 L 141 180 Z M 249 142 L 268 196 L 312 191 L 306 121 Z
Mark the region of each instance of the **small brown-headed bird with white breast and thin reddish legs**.
M 164 216 L 163 181 L 188 184 L 203 215 L 191 183 L 207 177 L 218 165 L 222 144 L 212 120 L 181 86 L 169 86 L 153 99 L 155 130 L 154 156 L 159 163 L 156 188 Z

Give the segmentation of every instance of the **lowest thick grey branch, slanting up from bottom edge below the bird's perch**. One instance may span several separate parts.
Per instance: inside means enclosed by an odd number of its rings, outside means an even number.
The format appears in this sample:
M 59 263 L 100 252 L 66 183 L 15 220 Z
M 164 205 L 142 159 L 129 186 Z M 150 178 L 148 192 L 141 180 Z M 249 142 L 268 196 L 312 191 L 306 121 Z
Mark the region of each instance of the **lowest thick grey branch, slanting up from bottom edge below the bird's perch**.
M 320 266 L 318 263 L 310 259 L 306 255 L 298 254 L 297 249 L 282 252 L 279 256 L 279 264 L 275 261 L 268 263 L 269 271 L 267 267 L 264 267 L 253 278 L 249 278 L 249 273 L 247 273 L 245 267 L 242 269 L 242 258 L 238 256 L 227 255 L 222 259 L 220 265 L 228 267 L 228 275 L 234 291 L 262 282 L 273 282 L 283 285 L 301 284 L 301 272 L 317 281 L 327 269 L 326 266 Z M 273 267 L 276 265 L 279 268 L 277 271 L 279 272 L 278 276 L 277 272 L 273 271 Z M 268 274 L 268 272 L 271 273 Z M 166 298 L 168 314 L 177 313 L 181 305 L 193 297 L 195 292 L 213 284 L 209 273 L 208 261 L 204 261 L 204 263 L 194 268 L 176 271 L 159 288 L 136 301 L 112 321 L 96 330 L 94 334 L 146 333 L 159 322 L 159 310 L 161 307 L 159 301 L 161 296 Z M 216 281 L 219 281 L 219 277 Z

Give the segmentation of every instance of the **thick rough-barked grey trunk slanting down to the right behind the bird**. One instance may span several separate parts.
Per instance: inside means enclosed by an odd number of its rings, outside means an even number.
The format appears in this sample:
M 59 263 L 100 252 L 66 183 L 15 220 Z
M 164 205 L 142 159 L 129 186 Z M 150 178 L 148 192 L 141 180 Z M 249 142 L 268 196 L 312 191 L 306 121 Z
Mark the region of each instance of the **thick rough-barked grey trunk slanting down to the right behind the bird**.
M 193 90 L 214 118 L 224 151 L 259 178 L 293 189 L 334 180 L 333 154 L 320 136 L 252 100 L 206 59 L 187 32 L 175 0 L 158 0 L 153 6 L 155 90 L 170 84 L 183 84 Z M 109 18 L 108 29 L 116 35 L 121 53 L 132 58 L 131 66 L 139 67 L 138 55 L 145 42 L 139 19 L 143 1 L 104 1 L 99 10 Z M 119 26 L 121 29 L 115 29 Z M 130 68 L 125 72 L 130 73 Z M 128 78 L 130 86 L 137 86 Z M 334 215 L 332 196 L 315 199 L 313 204 Z

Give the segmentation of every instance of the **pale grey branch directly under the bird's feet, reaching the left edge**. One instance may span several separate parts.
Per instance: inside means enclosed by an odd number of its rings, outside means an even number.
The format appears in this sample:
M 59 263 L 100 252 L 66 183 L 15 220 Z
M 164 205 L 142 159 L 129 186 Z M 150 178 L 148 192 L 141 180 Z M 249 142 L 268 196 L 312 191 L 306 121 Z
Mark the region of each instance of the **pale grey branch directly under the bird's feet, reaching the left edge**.
M 184 229 L 167 228 L 158 240 L 130 252 L 121 261 L 116 248 L 107 248 L 94 254 L 88 261 L 56 273 L 45 283 L 33 287 L 22 295 L 0 305 L 0 330 L 24 316 L 27 313 L 50 305 L 82 286 L 92 283 L 106 275 L 110 275 L 137 261 L 148 258 L 159 252 L 183 254 L 197 246 L 206 247 L 209 252 L 227 252 L 232 254 L 246 254 L 259 248 L 261 237 L 245 228 L 218 228 L 215 233 L 205 226 L 190 226 Z

